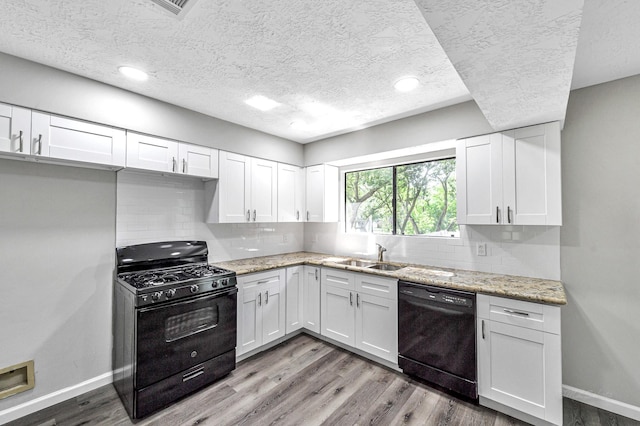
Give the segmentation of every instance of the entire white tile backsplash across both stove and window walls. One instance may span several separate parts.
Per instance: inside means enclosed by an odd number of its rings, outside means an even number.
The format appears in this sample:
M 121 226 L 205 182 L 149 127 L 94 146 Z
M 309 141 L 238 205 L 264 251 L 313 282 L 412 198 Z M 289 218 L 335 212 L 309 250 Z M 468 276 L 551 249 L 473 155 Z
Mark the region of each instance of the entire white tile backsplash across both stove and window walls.
M 380 243 L 390 261 L 560 279 L 559 227 L 461 226 L 460 238 L 428 238 L 347 234 L 343 223 L 208 224 L 201 180 L 121 171 L 117 191 L 118 246 L 205 240 L 209 261 L 222 262 L 303 249 L 375 258 Z

